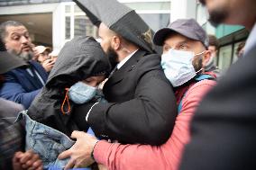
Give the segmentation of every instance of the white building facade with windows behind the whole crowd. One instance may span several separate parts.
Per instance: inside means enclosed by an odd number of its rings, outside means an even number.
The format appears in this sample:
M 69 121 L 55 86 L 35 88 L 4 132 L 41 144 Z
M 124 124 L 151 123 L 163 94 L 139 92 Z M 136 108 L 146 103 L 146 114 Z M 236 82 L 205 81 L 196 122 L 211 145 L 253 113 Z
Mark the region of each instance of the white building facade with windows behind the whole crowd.
M 103 2 L 107 0 L 103 0 Z M 219 42 L 215 63 L 226 70 L 237 60 L 235 51 L 248 37 L 242 26 L 220 25 L 214 28 L 207 22 L 206 8 L 198 0 L 119 0 L 134 9 L 154 31 L 178 18 L 195 18 L 208 34 Z M 89 35 L 97 38 L 97 28 L 71 0 L 0 0 L 0 22 L 16 20 L 29 29 L 38 45 L 61 49 L 72 38 Z

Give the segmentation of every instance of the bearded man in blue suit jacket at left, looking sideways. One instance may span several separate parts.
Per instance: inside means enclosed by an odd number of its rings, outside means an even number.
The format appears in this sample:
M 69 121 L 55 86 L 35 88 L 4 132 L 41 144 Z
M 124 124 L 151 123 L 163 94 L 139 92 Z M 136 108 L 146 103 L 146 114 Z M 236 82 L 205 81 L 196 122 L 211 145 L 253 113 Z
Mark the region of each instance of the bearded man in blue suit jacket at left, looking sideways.
M 20 22 L 8 21 L 0 24 L 0 39 L 5 48 L 16 58 L 22 58 L 26 67 L 5 73 L 5 82 L 0 96 L 23 104 L 27 109 L 45 84 L 48 74 L 41 65 L 32 61 L 32 42 L 27 29 Z

